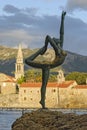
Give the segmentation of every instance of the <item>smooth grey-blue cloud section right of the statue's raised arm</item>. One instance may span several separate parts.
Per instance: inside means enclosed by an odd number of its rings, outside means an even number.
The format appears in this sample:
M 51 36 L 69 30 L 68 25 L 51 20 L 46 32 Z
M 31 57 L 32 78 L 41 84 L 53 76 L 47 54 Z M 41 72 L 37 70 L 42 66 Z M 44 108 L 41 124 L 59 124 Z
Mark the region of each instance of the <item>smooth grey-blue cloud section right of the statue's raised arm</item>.
M 69 16 L 65 21 L 64 48 L 68 51 L 87 55 L 87 24 Z

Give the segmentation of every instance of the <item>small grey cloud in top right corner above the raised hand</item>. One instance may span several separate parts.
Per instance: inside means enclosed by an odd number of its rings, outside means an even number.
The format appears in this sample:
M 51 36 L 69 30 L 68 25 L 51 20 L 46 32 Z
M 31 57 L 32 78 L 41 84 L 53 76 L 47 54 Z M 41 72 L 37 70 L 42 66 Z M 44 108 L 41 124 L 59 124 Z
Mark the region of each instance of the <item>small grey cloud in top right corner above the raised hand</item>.
M 67 0 L 66 8 L 69 11 L 87 10 L 87 0 Z

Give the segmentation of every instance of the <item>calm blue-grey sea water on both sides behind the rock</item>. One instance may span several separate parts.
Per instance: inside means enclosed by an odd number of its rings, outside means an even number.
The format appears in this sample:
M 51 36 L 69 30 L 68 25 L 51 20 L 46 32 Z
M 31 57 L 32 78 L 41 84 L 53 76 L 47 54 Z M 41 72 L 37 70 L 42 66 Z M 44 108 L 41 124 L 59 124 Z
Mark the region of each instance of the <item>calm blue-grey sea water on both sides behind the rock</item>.
M 64 113 L 76 113 L 76 114 L 87 114 L 87 110 L 74 110 L 74 109 L 52 109 L 62 111 Z M 32 110 L 28 110 L 31 112 Z M 0 110 L 0 130 L 11 130 L 12 123 L 19 117 L 22 116 L 23 111 L 19 110 Z M 24 111 L 27 112 L 27 111 Z

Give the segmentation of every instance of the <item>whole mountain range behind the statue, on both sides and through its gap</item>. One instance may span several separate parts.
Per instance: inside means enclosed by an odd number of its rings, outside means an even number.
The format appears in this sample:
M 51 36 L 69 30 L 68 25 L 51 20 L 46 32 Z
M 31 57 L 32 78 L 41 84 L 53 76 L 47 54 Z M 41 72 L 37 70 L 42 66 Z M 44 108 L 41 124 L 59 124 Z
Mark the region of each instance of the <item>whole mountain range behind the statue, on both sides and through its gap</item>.
M 0 46 L 0 72 L 14 75 L 17 51 L 18 49 Z M 35 53 L 35 51 L 37 51 L 37 49 L 23 49 L 24 59 Z M 51 49 L 48 49 L 45 55 L 42 56 L 43 58 L 39 56 L 38 60 L 53 60 L 53 53 Z M 67 51 L 67 57 L 61 67 L 66 73 L 72 71 L 87 72 L 87 56 Z M 29 68 L 30 67 L 25 64 L 25 70 Z M 55 70 L 57 70 L 57 68 L 55 68 Z

